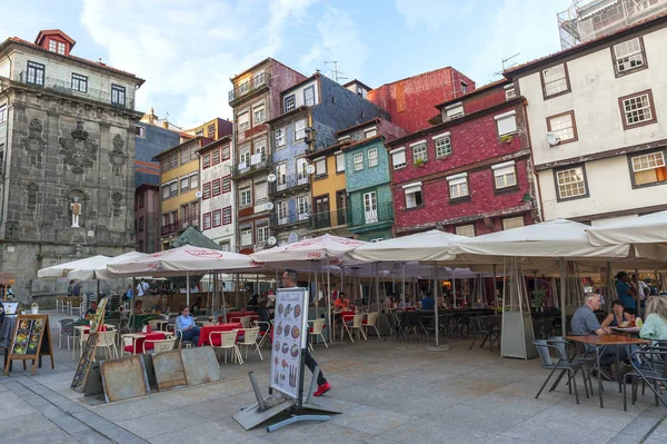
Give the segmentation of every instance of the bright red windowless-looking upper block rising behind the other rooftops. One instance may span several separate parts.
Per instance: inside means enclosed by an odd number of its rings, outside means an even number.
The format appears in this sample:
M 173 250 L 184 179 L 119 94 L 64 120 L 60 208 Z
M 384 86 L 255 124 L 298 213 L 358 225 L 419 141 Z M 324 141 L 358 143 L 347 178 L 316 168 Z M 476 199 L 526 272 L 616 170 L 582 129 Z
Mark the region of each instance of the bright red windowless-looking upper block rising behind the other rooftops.
M 394 124 L 412 132 L 429 127 L 431 107 L 472 90 L 472 80 L 447 67 L 382 85 L 366 98 L 389 112 Z

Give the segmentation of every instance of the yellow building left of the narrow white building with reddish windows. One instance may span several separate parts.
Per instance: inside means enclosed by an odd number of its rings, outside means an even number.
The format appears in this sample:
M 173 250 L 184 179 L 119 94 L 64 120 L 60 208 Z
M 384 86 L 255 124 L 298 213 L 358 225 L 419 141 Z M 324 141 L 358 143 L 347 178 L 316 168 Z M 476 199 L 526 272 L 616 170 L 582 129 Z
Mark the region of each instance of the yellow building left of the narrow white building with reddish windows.
M 168 249 L 189 226 L 199 227 L 199 156 L 197 151 L 210 139 L 195 137 L 160 152 L 160 244 Z

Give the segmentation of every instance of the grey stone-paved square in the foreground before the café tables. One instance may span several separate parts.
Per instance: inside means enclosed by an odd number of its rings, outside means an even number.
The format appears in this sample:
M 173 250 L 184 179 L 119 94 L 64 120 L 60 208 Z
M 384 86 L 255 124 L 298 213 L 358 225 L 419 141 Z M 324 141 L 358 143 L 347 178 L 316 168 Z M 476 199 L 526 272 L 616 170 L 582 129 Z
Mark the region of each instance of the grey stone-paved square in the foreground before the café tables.
M 63 316 L 51 313 L 51 325 Z M 269 361 L 251 354 L 246 365 L 221 364 L 217 383 L 90 405 L 69 388 L 76 367 L 59 349 L 56 368 L 34 376 L 14 363 L 0 376 L 0 443 L 647 443 L 667 441 L 667 410 L 639 396 L 623 411 L 618 386 L 605 383 L 580 404 L 567 386 L 535 398 L 547 376 L 538 359 L 500 358 L 487 346 L 449 341 L 449 352 L 394 338 L 316 346 L 313 356 L 334 386 L 326 396 L 344 413 L 325 423 L 298 423 L 272 433 L 246 432 L 232 415 L 253 402 L 248 373 L 268 387 Z M 266 348 L 265 356 L 269 355 Z M 309 378 L 310 375 L 307 374 Z M 307 381 L 308 383 L 308 381 Z M 215 441 L 213 441 L 215 440 Z

